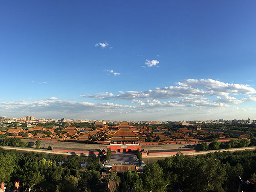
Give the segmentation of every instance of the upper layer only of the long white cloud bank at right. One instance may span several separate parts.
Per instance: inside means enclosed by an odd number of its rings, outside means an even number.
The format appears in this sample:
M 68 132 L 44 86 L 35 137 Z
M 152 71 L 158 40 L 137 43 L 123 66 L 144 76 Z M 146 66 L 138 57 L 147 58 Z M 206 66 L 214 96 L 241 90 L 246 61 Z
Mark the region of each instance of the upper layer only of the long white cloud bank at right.
M 222 100 L 236 101 L 228 96 L 233 95 L 247 95 L 250 93 L 256 93 L 256 90 L 249 85 L 243 84 L 229 84 L 223 83 L 221 81 L 216 81 L 212 79 L 187 79 L 183 82 L 176 83 L 178 86 L 169 87 L 156 87 L 154 90 L 145 91 L 119 91 L 119 94 L 109 96 L 99 96 L 97 95 L 81 95 L 81 97 L 90 97 L 95 99 L 172 99 L 172 98 L 183 98 L 183 97 L 195 97 L 195 96 L 219 96 L 217 99 L 221 99 L 220 96 L 224 96 Z M 249 95 L 250 98 L 256 98 L 255 96 Z M 242 99 L 243 102 L 245 99 Z

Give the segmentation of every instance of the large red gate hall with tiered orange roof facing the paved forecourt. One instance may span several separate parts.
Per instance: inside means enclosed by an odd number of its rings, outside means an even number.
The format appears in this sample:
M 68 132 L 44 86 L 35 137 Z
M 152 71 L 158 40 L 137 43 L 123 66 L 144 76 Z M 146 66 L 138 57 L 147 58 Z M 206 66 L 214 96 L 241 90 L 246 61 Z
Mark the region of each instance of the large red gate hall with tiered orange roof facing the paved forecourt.
M 141 150 L 138 134 L 130 130 L 130 125 L 127 122 L 122 122 L 119 129 L 115 133 L 109 134 L 109 137 L 111 143 L 108 148 L 111 148 L 111 151 L 125 153 L 134 152 L 137 148 Z

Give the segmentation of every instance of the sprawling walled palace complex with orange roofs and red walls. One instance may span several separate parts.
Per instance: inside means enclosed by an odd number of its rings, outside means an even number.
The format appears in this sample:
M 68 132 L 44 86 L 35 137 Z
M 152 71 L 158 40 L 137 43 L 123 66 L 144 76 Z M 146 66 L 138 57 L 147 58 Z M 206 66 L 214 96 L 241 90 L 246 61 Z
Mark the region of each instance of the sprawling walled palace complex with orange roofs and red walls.
M 11 127 L 0 131 L 0 134 L 7 138 L 42 140 L 42 145 L 45 143 L 43 147 L 47 148 L 50 145 L 53 151 L 101 155 L 105 154 L 108 148 L 118 153 L 135 152 L 139 148 L 143 157 L 194 152 L 195 148 L 192 145 L 211 142 L 212 137 L 218 138 L 219 142 L 237 139 L 224 132 L 202 130 L 200 125 L 133 125 L 128 122 L 115 125 L 95 122 L 77 127 L 76 124 L 69 122 L 60 123 L 52 128 Z M 249 137 L 243 134 L 240 138 Z M 184 144 L 187 147 L 174 147 L 176 144 Z

